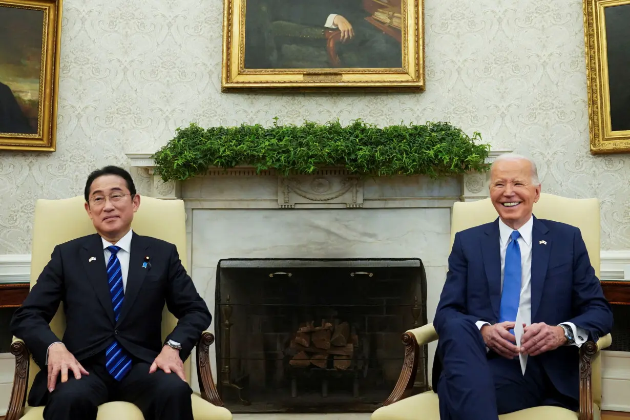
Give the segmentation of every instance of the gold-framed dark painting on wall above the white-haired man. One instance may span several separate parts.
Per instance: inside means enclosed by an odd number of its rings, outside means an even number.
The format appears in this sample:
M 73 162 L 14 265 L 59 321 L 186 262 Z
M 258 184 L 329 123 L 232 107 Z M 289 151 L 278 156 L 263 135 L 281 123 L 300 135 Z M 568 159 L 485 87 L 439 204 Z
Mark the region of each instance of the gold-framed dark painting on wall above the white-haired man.
M 584 0 L 592 154 L 630 152 L 630 0 Z

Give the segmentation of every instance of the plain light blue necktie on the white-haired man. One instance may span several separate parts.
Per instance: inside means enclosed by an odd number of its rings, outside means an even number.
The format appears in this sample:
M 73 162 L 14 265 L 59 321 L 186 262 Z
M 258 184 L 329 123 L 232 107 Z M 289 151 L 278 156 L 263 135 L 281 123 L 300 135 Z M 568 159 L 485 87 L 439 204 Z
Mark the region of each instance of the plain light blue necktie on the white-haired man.
M 510 235 L 510 243 L 505 251 L 505 268 L 503 269 L 503 292 L 501 292 L 501 308 L 499 322 L 516 321 L 518 304 L 520 303 L 520 286 L 522 267 L 520 265 L 520 247 L 518 237 L 520 233 L 514 230 Z M 510 329 L 514 334 L 514 330 Z

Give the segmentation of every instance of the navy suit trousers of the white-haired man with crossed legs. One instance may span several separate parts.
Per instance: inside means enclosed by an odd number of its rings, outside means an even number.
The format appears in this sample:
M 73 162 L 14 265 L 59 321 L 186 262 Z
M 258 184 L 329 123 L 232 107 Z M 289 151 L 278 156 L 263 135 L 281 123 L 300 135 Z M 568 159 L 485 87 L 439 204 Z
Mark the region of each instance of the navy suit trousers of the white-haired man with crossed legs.
M 481 332 L 469 318 L 447 321 L 437 354 L 442 373 L 437 383 L 442 420 L 497 420 L 537 406 L 576 409 L 576 402 L 553 387 L 537 357 L 529 356 L 525 375 L 518 358 L 486 351 Z

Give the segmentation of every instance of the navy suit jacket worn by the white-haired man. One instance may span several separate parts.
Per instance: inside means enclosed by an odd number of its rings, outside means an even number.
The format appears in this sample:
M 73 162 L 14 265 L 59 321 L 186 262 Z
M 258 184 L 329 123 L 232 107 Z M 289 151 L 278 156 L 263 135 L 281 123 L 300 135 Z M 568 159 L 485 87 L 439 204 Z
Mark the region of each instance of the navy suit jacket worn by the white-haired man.
M 541 243 L 545 241 L 546 244 Z M 612 310 L 588 258 L 580 229 L 534 217 L 532 229 L 532 324 L 573 322 L 597 341 L 612 328 Z M 498 322 L 501 304 L 501 254 L 498 219 L 455 234 L 449 271 L 433 324 L 438 334 L 454 317 Z M 531 358 L 532 356 L 530 356 Z M 539 356 L 562 394 L 578 400 L 579 349 L 561 346 Z M 441 372 L 435 357 L 433 389 Z

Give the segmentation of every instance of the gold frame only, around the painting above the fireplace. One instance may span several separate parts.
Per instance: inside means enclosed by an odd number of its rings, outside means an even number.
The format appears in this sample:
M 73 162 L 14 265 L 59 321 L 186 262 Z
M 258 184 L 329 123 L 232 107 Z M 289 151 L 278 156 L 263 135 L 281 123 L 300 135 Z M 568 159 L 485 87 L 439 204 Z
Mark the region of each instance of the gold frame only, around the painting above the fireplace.
M 402 0 L 403 67 L 245 69 L 246 0 L 224 0 L 221 91 L 424 91 L 424 0 Z

